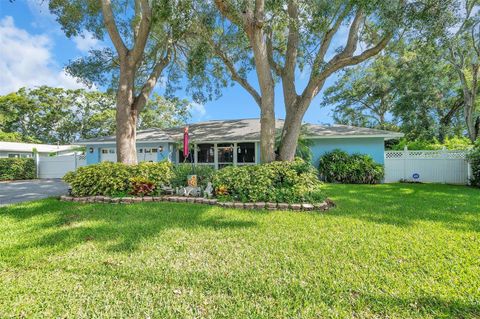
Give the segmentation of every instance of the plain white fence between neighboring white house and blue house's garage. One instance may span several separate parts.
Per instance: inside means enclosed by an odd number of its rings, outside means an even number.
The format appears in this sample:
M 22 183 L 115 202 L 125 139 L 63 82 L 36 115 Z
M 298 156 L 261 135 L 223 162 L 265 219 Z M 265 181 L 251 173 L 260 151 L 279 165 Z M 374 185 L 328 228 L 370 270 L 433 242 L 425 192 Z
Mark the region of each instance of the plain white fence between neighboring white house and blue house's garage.
M 38 178 L 62 178 L 67 172 L 87 164 L 85 155 L 37 156 Z

